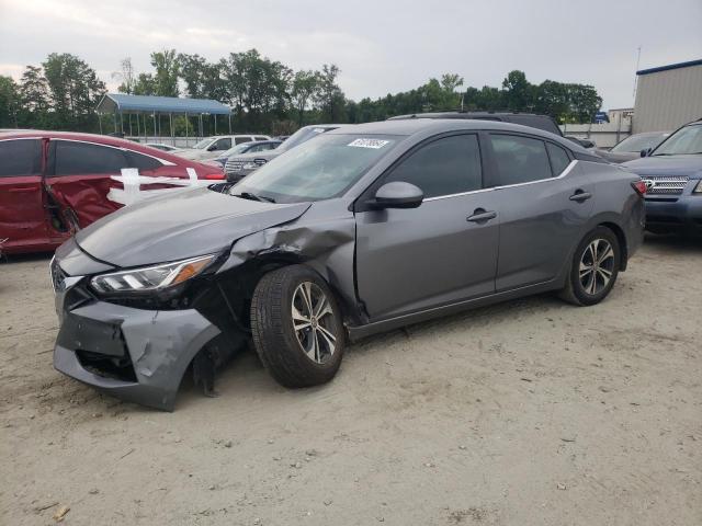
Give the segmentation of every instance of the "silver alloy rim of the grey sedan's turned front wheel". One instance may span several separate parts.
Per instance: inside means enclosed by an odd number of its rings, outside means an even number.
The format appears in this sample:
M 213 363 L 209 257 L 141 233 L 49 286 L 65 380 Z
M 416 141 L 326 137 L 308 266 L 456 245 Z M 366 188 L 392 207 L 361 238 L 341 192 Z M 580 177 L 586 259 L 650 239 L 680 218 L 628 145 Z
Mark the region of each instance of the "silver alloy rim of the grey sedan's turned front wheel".
M 312 282 L 297 285 L 293 294 L 292 321 L 297 342 L 309 359 L 324 364 L 333 355 L 337 345 L 333 310 L 318 285 Z

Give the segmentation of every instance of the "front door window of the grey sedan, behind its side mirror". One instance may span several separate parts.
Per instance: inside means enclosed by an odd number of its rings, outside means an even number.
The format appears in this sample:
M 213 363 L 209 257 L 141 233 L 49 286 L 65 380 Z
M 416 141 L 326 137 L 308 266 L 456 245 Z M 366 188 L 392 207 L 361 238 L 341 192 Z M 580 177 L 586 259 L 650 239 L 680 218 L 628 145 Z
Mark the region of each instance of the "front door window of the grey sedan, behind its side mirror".
M 419 186 L 426 198 L 479 190 L 483 172 L 477 136 L 454 135 L 422 146 L 384 180 L 392 181 Z

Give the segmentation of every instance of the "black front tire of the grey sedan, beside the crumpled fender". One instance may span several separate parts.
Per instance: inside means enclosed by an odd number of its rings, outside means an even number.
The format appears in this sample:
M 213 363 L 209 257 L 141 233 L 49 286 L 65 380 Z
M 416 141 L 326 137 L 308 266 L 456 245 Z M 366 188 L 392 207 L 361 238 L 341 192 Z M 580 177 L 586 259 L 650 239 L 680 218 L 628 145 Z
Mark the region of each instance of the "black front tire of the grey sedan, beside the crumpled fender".
M 293 305 L 295 301 L 299 306 L 297 316 L 306 315 L 307 311 L 303 310 L 310 305 L 303 301 L 307 297 L 306 290 L 309 291 L 313 307 L 316 307 L 315 298 L 319 301 L 319 293 L 324 294 L 331 312 L 319 316 L 318 320 L 314 313 L 307 315 L 309 327 L 295 331 Z M 313 310 L 309 309 L 310 312 Z M 305 324 L 301 318 L 297 319 L 298 323 Z M 322 329 L 327 332 L 322 332 Z M 285 266 L 265 274 L 258 283 L 251 299 L 251 334 L 263 366 L 279 384 L 297 388 L 331 380 L 343 357 L 343 331 L 339 304 L 333 293 L 312 268 L 304 265 Z M 333 343 L 330 343 L 327 333 L 336 338 Z M 304 344 L 312 350 L 309 354 L 303 348 Z

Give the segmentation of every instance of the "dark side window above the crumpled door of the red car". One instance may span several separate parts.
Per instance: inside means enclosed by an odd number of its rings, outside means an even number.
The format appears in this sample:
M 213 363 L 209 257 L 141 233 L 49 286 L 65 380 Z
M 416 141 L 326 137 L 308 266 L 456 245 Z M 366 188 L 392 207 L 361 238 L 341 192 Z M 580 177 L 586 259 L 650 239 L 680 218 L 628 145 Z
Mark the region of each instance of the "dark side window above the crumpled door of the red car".
M 129 167 L 127 156 L 120 148 L 69 140 L 55 142 L 55 175 L 120 173 Z

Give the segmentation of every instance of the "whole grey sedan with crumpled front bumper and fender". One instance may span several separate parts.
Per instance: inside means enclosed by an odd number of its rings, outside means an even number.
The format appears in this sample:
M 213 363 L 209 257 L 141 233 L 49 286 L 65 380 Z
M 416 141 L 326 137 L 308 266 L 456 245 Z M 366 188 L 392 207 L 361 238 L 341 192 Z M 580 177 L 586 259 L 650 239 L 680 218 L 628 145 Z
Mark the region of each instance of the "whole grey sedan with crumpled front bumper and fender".
M 607 297 L 643 238 L 638 176 L 505 123 L 328 132 L 225 193 L 120 210 L 56 253 L 55 367 L 171 410 L 249 338 L 287 387 L 330 380 L 347 338 L 529 294 Z M 499 258 L 498 258 L 499 254 Z

